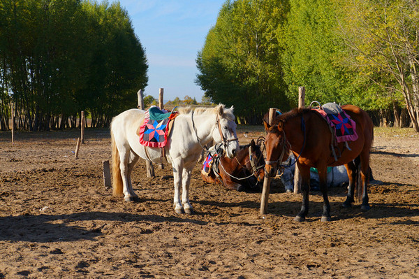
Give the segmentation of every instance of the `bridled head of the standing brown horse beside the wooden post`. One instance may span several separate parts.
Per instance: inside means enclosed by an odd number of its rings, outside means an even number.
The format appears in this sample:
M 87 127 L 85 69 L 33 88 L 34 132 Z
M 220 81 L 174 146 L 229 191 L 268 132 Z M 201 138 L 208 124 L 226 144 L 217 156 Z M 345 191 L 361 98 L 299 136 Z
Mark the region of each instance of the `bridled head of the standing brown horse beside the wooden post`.
M 263 120 L 263 124 L 267 133 L 265 138 L 265 176 L 274 177 L 277 175 L 281 162 L 288 159 L 290 150 L 286 141 L 284 122 L 279 121 L 278 124 L 270 125 Z

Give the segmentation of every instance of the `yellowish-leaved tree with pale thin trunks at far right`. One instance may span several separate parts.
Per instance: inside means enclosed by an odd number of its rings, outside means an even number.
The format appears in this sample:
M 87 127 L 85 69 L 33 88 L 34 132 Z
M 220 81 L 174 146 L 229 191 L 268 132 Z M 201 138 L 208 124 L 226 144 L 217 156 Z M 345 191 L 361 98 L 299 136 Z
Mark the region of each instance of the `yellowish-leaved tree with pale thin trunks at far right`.
M 402 94 L 419 131 L 419 3 L 354 0 L 346 3 L 345 13 L 351 16 L 342 30 L 356 66 L 390 92 L 393 103 Z

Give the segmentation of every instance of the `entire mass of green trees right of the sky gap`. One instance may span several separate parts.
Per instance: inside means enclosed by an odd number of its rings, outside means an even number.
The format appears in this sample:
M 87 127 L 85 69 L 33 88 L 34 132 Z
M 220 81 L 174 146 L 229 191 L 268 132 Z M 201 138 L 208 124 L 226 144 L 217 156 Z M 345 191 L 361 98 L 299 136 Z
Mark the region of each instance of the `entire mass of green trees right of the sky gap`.
M 245 118 L 297 106 L 304 86 L 306 105 L 406 106 L 417 129 L 417 34 L 417 1 L 226 1 L 198 52 L 196 83 Z

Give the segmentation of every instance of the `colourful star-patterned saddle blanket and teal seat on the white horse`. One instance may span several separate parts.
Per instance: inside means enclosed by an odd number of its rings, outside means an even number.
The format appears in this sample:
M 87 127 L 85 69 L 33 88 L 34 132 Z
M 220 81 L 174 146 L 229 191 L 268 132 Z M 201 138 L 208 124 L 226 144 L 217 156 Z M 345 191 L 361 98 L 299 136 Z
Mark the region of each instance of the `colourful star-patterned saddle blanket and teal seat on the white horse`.
M 140 129 L 140 143 L 149 148 L 163 148 L 166 146 L 169 134 L 170 121 L 175 119 L 177 112 L 168 112 L 168 110 L 160 110 L 153 106 L 145 112 L 145 119 Z

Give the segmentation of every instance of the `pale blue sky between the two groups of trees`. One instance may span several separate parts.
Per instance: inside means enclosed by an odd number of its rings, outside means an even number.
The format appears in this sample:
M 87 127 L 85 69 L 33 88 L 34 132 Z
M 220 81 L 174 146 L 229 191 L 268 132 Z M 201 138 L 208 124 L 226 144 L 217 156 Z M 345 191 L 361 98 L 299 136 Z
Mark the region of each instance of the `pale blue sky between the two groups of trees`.
M 147 55 L 145 94 L 157 99 L 164 88 L 165 100 L 188 95 L 201 101 L 204 92 L 194 83 L 195 60 L 225 1 L 119 0 Z

